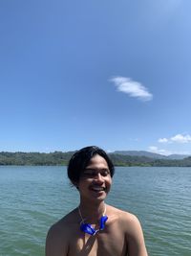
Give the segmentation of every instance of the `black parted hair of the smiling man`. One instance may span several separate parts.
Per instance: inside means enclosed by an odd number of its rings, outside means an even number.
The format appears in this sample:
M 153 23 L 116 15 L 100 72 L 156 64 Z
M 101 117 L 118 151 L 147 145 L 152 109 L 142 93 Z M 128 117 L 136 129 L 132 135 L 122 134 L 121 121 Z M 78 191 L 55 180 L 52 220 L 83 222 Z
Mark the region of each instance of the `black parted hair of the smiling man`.
M 69 161 L 68 177 L 75 186 L 79 181 L 81 173 L 88 166 L 91 158 L 96 154 L 99 154 L 106 160 L 110 170 L 110 175 L 113 177 L 115 173 L 115 167 L 108 154 L 96 146 L 89 146 L 79 151 L 75 151 L 74 155 L 71 157 L 71 160 Z

